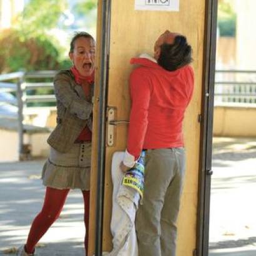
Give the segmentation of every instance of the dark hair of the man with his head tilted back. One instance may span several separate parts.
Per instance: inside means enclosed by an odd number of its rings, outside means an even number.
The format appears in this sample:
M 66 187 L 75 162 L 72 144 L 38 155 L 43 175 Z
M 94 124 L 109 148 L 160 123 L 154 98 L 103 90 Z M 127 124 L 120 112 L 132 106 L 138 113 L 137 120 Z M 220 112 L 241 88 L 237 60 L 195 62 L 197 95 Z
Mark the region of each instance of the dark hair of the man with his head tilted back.
M 175 71 L 192 62 L 192 48 L 185 36 L 176 36 L 173 44 L 162 44 L 157 63 L 168 71 Z

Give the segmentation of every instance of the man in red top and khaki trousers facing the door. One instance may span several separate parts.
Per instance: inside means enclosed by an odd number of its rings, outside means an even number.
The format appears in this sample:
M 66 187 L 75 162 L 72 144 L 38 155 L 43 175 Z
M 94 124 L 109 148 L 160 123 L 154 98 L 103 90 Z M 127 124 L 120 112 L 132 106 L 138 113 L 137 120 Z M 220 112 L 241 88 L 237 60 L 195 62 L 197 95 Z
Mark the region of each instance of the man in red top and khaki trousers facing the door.
M 165 31 L 155 42 L 154 58 L 130 61 L 139 67 L 130 74 L 132 107 L 122 170 L 133 167 L 146 150 L 144 197 L 135 221 L 139 256 L 175 255 L 185 176 L 182 121 L 194 87 L 191 52 L 184 36 Z

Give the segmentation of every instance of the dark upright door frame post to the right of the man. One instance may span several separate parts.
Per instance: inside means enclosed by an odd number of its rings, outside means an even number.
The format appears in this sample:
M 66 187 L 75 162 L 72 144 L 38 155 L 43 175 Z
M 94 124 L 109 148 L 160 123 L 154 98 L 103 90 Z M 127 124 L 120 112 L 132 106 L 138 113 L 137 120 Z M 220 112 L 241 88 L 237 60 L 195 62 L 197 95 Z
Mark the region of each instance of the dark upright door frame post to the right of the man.
M 197 215 L 197 249 L 194 256 L 209 255 L 210 185 L 212 175 L 212 131 L 214 116 L 215 55 L 218 0 L 205 6 L 204 72 L 200 133 L 200 172 Z

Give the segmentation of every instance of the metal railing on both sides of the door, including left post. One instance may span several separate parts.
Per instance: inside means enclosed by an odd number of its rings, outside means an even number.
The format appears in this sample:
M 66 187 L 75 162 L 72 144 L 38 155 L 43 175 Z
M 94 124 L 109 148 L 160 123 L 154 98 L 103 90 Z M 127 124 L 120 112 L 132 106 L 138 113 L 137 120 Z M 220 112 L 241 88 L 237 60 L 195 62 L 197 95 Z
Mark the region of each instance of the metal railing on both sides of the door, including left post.
M 24 106 L 29 104 L 52 103 L 56 98 L 52 94 L 29 95 L 37 89 L 53 89 L 51 79 L 57 71 L 13 72 L 0 75 L 0 92 L 12 92 L 16 95 L 18 109 L 19 155 L 23 154 Z M 215 104 L 222 102 L 256 103 L 256 71 L 217 70 L 215 72 Z M 8 103 L 0 102 L 0 103 Z M 13 104 L 13 102 L 11 103 Z

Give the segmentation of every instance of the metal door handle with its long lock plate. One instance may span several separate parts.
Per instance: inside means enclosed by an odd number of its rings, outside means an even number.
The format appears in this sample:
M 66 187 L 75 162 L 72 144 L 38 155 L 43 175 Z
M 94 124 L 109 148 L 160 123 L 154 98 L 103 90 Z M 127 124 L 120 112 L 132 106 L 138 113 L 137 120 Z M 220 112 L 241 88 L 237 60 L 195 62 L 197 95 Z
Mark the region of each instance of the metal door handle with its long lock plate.
M 115 127 L 118 124 L 129 124 L 126 120 L 115 120 L 116 117 L 116 107 L 107 108 L 107 146 L 113 147 L 115 142 Z

